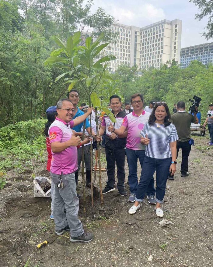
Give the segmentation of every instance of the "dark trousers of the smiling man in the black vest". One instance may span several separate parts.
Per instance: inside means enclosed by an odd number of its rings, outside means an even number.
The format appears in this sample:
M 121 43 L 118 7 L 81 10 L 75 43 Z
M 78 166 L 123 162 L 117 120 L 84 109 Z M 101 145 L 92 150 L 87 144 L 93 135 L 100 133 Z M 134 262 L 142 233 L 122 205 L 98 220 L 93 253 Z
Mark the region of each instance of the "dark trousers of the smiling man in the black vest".
M 124 189 L 125 180 L 125 149 L 106 148 L 107 186 L 113 188 L 115 185 L 115 162 L 117 166 L 117 189 Z

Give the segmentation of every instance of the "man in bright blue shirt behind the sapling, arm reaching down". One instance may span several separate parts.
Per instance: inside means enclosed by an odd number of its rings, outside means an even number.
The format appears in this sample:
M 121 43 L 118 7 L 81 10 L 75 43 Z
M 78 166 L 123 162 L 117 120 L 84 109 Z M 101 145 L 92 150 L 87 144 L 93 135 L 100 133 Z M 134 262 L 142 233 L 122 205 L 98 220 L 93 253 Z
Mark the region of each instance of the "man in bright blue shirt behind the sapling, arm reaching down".
M 74 116 L 72 119 L 75 119 L 76 117 L 79 117 L 84 114 L 83 111 L 79 109 L 77 106 L 79 103 L 79 92 L 75 89 L 72 89 L 68 92 L 67 97 L 72 102 L 72 105 L 75 109 Z M 72 130 L 75 130 L 76 132 L 81 132 L 81 128 L 83 126 L 83 123 L 79 123 L 78 125 L 72 127 Z M 88 119 L 86 119 L 86 131 L 88 134 L 90 134 L 90 124 Z M 92 129 L 93 136 L 95 136 L 95 132 Z M 96 141 L 100 141 L 100 137 L 95 137 Z M 76 186 L 78 185 L 78 179 L 79 179 L 79 170 L 81 165 L 81 158 L 82 158 L 82 148 L 78 148 L 78 170 L 75 172 L 75 183 Z M 86 167 L 86 186 L 91 188 L 91 175 L 90 175 L 90 145 L 87 145 L 84 147 L 84 163 Z M 84 170 L 82 170 L 84 171 Z

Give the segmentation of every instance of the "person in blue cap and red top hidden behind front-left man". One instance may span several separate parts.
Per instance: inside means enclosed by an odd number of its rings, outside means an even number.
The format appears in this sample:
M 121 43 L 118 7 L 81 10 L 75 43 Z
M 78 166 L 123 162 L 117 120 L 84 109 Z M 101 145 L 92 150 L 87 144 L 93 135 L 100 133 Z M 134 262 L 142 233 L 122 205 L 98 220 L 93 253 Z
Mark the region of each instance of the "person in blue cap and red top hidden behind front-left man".
M 46 136 L 46 148 L 47 148 L 47 170 L 50 172 L 50 166 L 51 166 L 51 160 L 52 160 L 52 152 L 51 152 L 51 146 L 50 146 L 50 138 L 48 135 L 48 130 L 51 126 L 51 124 L 54 122 L 56 116 L 58 115 L 56 111 L 56 106 L 51 106 L 48 109 L 46 109 L 46 115 L 48 122 L 45 124 L 44 128 L 44 134 Z M 51 215 L 50 219 L 53 220 L 53 210 L 54 210 L 54 198 L 55 198 L 55 189 L 54 189 L 54 183 L 51 183 Z

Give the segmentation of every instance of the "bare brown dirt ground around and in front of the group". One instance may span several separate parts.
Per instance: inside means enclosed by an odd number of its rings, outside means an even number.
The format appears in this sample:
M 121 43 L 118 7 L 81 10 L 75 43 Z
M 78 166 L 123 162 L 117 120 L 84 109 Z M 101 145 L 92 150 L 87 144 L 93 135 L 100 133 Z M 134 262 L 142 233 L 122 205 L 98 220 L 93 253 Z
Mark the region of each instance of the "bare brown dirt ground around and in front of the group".
M 207 137 L 193 138 L 190 175 L 180 177 L 180 153 L 175 180 L 167 181 L 162 208 L 164 219 L 173 224 L 161 227 L 158 222 L 162 219 L 147 199 L 136 214 L 129 215 L 132 204 L 128 195 L 121 197 L 117 190 L 104 195 L 103 205 L 96 199 L 92 208 L 87 188 L 86 213 L 81 198 L 79 218 L 84 228 L 95 234 L 88 244 L 70 243 L 66 233 L 37 248 L 45 234 L 54 233 L 54 222 L 49 219 L 51 199 L 33 197 L 32 172 L 22 175 L 23 180 L 8 172 L 12 196 L 7 186 L 0 191 L 0 266 L 213 266 L 213 147 L 207 149 Z M 140 171 L 138 167 L 138 177 Z M 48 175 L 44 164 L 38 162 L 34 172 Z M 126 181 L 127 175 L 126 163 Z M 102 172 L 102 181 L 104 188 L 106 172 Z M 125 187 L 129 193 L 126 182 Z M 78 191 L 82 195 L 82 183 Z M 150 255 L 153 258 L 148 262 Z

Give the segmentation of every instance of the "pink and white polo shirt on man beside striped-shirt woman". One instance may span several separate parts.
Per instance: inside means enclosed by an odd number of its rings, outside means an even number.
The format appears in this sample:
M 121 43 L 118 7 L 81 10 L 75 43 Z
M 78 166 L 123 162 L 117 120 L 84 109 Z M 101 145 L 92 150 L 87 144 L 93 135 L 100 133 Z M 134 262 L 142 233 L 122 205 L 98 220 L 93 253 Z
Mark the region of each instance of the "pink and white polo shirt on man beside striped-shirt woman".
M 141 144 L 141 130 L 144 124 L 148 122 L 151 113 L 142 110 L 141 115 L 138 117 L 133 112 L 127 114 L 124 118 L 122 126 L 127 128 L 127 144 L 126 147 L 133 150 L 145 150 L 145 146 Z

